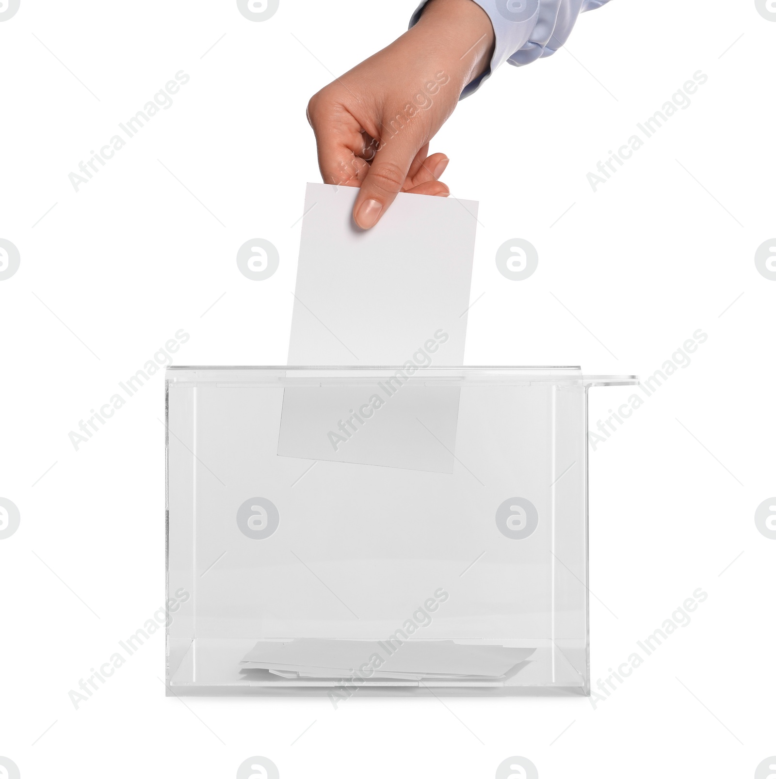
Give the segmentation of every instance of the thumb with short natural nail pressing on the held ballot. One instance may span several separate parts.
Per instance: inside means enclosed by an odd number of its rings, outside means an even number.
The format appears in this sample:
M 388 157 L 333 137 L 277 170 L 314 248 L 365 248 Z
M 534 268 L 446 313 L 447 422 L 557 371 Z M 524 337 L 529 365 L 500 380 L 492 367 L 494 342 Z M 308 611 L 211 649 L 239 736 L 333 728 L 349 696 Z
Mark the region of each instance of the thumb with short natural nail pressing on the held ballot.
M 378 150 L 358 191 L 353 218 L 364 230 L 377 224 L 407 180 L 419 146 L 412 145 L 410 139 L 401 140 L 404 143 L 395 139 Z

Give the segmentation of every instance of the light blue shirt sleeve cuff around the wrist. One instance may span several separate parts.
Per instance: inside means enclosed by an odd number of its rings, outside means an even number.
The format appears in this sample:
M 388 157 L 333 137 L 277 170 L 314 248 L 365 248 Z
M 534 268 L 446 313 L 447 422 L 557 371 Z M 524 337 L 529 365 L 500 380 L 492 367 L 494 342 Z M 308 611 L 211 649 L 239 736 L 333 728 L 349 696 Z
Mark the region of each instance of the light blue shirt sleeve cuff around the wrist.
M 418 22 L 426 2 L 412 15 L 410 26 Z M 563 46 L 577 17 L 584 11 L 600 8 L 608 0 L 472 0 L 488 14 L 496 33 L 496 48 L 490 67 L 466 86 L 467 97 L 504 62 L 527 65 L 549 57 Z

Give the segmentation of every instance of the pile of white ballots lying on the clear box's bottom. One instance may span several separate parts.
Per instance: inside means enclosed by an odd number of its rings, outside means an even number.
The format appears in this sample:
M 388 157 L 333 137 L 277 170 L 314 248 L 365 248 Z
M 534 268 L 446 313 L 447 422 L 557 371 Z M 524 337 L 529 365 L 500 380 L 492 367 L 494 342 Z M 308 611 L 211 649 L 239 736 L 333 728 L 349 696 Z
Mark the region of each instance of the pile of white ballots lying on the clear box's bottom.
M 402 643 L 348 639 L 260 640 L 240 669 L 269 671 L 300 682 L 321 679 L 395 679 L 407 682 L 499 682 L 523 667 L 534 649 L 451 640 Z M 519 667 L 518 667 L 519 666 Z

